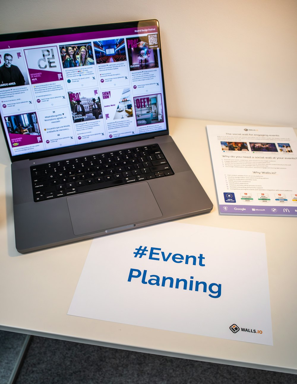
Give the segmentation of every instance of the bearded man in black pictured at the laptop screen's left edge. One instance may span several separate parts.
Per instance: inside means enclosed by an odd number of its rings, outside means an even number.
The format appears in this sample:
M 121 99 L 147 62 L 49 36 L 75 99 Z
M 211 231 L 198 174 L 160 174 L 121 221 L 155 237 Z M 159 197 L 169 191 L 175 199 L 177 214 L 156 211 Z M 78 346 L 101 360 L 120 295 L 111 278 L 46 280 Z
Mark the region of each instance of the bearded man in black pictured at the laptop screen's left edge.
M 10 53 L 4 54 L 4 64 L 0 66 L 0 89 L 25 85 L 22 72 L 12 64 L 13 57 Z

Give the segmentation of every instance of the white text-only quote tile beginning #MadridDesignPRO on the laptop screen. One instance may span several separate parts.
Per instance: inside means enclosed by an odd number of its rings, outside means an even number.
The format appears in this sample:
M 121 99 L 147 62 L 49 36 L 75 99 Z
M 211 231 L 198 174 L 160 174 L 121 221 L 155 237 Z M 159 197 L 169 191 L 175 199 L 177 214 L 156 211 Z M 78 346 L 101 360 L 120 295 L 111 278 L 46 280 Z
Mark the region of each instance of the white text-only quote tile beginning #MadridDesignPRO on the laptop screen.
M 46 149 L 76 144 L 68 107 L 38 111 L 38 116 Z

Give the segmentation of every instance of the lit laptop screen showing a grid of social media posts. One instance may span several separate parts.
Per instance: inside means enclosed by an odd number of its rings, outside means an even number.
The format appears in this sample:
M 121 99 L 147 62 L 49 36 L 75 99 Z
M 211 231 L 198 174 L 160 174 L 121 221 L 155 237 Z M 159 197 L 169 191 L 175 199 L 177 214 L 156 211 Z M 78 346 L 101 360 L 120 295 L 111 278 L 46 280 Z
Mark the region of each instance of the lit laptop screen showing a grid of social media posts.
M 0 39 L 1 122 L 13 158 L 166 133 L 157 20 Z

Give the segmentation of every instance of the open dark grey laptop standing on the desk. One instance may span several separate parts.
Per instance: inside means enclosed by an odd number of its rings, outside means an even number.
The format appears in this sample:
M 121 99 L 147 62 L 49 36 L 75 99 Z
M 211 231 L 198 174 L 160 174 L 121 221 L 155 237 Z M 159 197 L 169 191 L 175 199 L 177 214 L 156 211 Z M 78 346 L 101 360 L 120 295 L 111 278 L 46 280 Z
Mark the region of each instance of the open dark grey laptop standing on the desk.
M 0 36 L 18 252 L 212 210 L 169 136 L 159 22 Z

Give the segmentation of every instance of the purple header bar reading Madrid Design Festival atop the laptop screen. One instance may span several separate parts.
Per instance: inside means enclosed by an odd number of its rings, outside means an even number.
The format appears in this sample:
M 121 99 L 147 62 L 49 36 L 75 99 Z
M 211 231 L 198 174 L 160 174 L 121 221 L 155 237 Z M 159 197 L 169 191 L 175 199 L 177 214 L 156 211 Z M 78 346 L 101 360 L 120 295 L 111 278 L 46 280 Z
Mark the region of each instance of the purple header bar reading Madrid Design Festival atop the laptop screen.
M 155 33 L 158 31 L 156 25 L 142 26 L 135 28 L 122 28 L 113 29 L 108 31 L 94 31 L 82 33 L 70 33 L 68 35 L 34 37 L 31 39 L 20 39 L 11 41 L 1 41 L 0 49 L 20 48 L 25 46 L 43 45 L 43 44 L 62 44 L 67 41 L 80 41 L 80 40 L 100 40 L 106 37 L 126 36 L 143 33 Z

